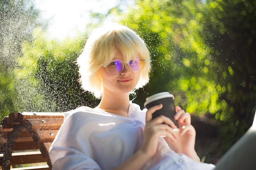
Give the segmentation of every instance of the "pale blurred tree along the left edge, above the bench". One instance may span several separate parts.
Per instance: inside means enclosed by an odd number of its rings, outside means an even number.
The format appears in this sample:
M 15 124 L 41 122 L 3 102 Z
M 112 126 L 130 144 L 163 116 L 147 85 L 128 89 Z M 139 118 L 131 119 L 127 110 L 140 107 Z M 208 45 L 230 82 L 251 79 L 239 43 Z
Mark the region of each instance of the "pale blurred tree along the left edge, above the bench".
M 24 40 L 31 38 L 31 31 L 38 25 L 38 11 L 27 0 L 0 1 L 0 114 L 1 118 L 17 111 L 14 104 L 18 82 L 13 75 Z

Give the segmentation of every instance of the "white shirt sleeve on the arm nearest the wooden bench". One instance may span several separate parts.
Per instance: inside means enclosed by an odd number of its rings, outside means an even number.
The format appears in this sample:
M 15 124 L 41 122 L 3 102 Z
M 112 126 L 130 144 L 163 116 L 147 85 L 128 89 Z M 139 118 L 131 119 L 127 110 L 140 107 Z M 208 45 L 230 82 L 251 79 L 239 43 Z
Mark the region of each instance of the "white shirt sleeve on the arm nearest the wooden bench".
M 84 140 L 84 121 L 79 114 L 65 119 L 49 150 L 52 170 L 101 170 L 92 159 L 90 144 Z

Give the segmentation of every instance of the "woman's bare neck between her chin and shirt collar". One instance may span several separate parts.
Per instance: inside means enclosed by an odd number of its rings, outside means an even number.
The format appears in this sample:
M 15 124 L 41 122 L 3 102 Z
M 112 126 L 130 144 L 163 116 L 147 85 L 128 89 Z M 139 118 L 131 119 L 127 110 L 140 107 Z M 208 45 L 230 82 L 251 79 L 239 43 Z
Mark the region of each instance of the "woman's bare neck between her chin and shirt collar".
M 103 109 L 108 113 L 128 117 L 130 107 L 129 94 L 124 95 L 103 95 L 97 108 Z

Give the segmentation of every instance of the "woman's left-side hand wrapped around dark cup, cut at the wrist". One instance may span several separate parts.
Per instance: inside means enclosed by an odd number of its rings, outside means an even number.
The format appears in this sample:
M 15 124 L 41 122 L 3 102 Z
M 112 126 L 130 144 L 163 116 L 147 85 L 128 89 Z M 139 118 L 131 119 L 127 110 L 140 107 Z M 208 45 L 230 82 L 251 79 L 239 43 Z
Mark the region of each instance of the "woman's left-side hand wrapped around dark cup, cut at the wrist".
M 157 152 L 157 144 L 159 137 L 166 137 L 169 141 L 176 141 L 177 134 L 173 129 L 177 128 L 171 119 L 159 116 L 152 120 L 152 114 L 162 108 L 162 104 L 153 106 L 146 112 L 146 125 L 141 151 L 150 158 Z M 165 123 L 165 124 L 162 124 Z M 168 126 L 169 125 L 169 126 Z

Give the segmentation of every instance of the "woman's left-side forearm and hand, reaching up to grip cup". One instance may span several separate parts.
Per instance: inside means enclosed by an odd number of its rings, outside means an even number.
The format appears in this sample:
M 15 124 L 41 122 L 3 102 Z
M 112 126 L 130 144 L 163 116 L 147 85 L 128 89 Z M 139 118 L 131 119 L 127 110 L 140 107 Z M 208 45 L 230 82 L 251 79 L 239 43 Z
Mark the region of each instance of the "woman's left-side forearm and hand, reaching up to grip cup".
M 140 170 L 157 152 L 159 137 L 167 136 L 173 142 L 176 140 L 177 135 L 173 129 L 177 128 L 177 126 L 170 119 L 160 116 L 152 120 L 152 114 L 161 108 L 162 104 L 148 109 L 141 148 L 132 157 L 116 167 L 115 170 Z

